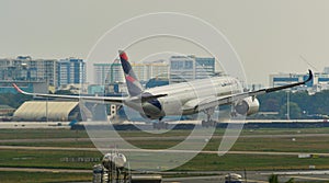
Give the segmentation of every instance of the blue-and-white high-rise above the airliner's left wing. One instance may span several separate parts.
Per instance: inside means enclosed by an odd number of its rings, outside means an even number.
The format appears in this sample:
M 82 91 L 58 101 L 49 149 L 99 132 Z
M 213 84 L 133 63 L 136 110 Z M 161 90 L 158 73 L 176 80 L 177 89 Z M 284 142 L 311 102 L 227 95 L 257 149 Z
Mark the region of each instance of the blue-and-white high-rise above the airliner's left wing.
M 78 58 L 58 60 L 57 87 L 79 83 L 86 83 L 86 62 Z

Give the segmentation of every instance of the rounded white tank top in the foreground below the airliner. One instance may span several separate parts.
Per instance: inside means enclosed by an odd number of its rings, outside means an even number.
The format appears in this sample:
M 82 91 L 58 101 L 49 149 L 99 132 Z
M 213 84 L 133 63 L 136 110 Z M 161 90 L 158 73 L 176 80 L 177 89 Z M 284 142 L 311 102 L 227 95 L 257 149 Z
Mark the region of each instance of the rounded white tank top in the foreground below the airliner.
M 107 170 L 113 170 L 113 169 L 123 169 L 127 163 L 127 159 L 123 153 L 106 153 L 103 157 L 102 164 L 104 168 Z

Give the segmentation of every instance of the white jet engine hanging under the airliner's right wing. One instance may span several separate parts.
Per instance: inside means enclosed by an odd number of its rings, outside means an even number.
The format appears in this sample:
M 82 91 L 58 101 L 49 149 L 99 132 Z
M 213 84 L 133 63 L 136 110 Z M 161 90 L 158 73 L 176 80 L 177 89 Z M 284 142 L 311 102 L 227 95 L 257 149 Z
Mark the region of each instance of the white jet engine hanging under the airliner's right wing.
M 256 98 L 246 98 L 236 103 L 235 110 L 240 115 L 251 115 L 259 112 L 259 101 Z

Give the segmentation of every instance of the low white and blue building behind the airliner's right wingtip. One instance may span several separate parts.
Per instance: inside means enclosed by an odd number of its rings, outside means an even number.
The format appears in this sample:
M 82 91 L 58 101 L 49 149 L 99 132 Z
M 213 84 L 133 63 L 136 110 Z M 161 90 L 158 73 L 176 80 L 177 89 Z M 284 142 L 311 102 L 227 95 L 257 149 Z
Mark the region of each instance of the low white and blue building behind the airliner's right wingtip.
M 308 75 L 305 73 L 275 73 L 270 75 L 270 87 L 280 87 L 294 82 L 306 80 Z M 311 81 L 304 87 L 297 87 L 293 90 L 313 90 L 318 92 L 321 90 L 329 90 L 329 67 L 324 69 L 324 72 L 315 72 Z

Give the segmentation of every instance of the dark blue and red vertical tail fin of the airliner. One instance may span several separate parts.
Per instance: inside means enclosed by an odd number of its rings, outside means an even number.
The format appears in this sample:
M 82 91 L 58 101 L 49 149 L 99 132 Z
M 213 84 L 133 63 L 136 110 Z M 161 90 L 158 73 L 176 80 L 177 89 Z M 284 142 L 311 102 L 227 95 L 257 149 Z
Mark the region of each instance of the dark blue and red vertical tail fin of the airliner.
M 125 52 L 118 50 L 122 68 L 125 73 L 126 84 L 131 96 L 139 95 L 143 92 L 143 87 L 138 81 Z

